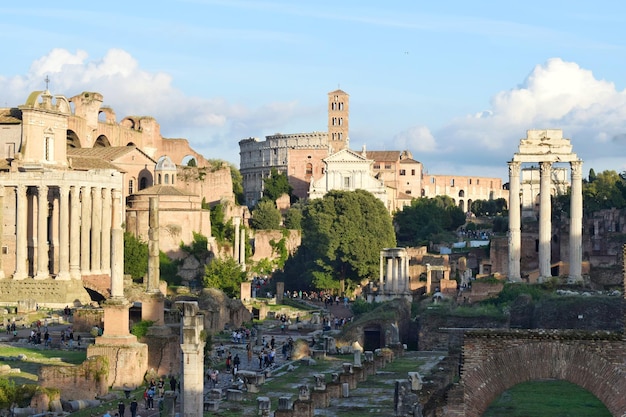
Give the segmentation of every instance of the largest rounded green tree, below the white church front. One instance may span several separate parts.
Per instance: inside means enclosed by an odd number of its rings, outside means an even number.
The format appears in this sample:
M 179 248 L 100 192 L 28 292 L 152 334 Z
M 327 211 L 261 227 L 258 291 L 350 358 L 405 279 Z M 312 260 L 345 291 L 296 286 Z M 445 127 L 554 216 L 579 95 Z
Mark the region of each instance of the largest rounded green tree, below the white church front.
M 295 279 L 343 293 L 346 283 L 376 276 L 380 250 L 395 245 L 391 216 L 379 199 L 364 190 L 335 190 L 304 208 L 302 253 L 294 259 L 307 269 L 285 268 Z

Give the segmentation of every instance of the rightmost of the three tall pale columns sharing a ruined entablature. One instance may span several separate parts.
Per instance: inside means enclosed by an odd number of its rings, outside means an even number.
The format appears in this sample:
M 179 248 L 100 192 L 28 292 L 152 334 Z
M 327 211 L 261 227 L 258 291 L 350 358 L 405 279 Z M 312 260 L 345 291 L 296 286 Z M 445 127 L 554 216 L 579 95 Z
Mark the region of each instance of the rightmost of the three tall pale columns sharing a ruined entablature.
M 570 162 L 572 188 L 570 196 L 569 280 L 582 281 L 583 259 L 583 180 L 582 161 Z

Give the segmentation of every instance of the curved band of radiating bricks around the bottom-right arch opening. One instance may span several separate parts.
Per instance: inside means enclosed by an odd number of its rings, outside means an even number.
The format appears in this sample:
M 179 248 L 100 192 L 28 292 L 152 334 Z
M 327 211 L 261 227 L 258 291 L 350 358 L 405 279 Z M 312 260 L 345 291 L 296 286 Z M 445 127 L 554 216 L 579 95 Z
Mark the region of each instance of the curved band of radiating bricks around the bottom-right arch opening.
M 577 341 L 526 342 L 493 352 L 479 365 L 463 370 L 466 417 L 480 417 L 507 389 L 541 379 L 561 379 L 595 395 L 611 412 L 621 415 L 625 375 L 596 349 Z

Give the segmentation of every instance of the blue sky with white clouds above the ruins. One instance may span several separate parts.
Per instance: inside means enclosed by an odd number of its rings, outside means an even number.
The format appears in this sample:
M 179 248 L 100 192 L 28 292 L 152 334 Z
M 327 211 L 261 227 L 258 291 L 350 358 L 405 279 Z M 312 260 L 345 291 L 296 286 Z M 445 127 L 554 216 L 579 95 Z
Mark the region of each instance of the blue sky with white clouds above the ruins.
M 583 174 L 626 170 L 626 2 L 33 0 L 0 5 L 0 107 L 46 88 L 239 165 L 239 141 L 327 130 L 425 172 L 508 180 L 529 129 L 562 129 Z

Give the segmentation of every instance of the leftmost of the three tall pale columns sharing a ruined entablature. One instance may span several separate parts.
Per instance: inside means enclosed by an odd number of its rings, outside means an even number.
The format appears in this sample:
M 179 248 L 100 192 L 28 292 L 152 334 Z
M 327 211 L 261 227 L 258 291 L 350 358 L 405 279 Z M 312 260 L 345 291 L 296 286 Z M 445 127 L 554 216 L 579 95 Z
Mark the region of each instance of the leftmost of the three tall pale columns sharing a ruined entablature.
M 520 213 L 520 162 L 509 162 L 509 281 L 520 282 L 522 229 Z

